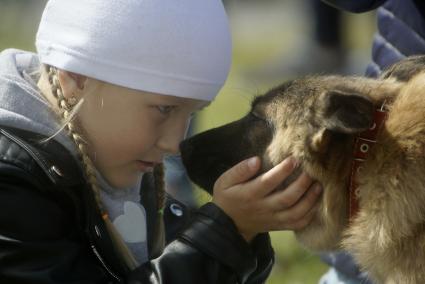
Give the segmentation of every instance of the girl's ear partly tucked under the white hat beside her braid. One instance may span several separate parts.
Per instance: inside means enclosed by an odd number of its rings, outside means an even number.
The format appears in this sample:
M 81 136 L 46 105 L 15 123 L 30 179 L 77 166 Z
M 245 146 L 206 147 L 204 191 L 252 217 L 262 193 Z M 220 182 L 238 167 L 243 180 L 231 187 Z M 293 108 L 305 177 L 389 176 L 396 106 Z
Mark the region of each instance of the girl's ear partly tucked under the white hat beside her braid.
M 58 79 L 66 99 L 80 99 L 86 87 L 87 77 L 69 71 L 58 70 Z

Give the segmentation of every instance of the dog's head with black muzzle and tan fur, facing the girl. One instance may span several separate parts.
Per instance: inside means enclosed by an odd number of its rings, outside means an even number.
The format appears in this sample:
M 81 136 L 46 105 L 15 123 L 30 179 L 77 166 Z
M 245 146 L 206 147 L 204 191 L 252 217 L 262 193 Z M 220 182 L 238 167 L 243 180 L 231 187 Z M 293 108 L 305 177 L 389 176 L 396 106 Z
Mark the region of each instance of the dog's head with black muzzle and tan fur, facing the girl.
M 238 121 L 181 144 L 189 177 L 211 193 L 216 179 L 239 161 L 259 156 L 262 172 L 288 156 L 322 183 L 318 214 L 299 239 L 315 249 L 338 245 L 347 223 L 346 187 L 356 134 L 368 129 L 374 109 L 397 93 L 394 80 L 321 76 L 290 81 L 257 97 Z M 283 185 L 284 186 L 284 185 Z

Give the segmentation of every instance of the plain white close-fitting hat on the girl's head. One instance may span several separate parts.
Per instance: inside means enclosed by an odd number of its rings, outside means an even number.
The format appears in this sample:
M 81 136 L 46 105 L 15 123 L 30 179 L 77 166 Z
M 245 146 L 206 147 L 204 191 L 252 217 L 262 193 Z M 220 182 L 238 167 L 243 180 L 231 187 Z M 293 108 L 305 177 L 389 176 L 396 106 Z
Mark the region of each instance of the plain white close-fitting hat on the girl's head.
M 220 0 L 50 0 L 40 61 L 136 90 L 211 101 L 231 62 Z

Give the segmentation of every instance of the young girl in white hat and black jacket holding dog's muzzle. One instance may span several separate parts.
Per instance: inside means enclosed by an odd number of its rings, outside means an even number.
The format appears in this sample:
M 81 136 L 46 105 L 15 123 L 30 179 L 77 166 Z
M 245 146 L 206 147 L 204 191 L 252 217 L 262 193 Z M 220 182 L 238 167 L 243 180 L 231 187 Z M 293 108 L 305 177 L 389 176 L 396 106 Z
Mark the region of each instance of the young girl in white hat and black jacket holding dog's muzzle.
M 51 0 L 36 46 L 0 55 L 0 283 L 264 282 L 264 232 L 305 226 L 320 191 L 271 193 L 295 161 L 241 162 L 190 220 L 163 190 L 228 74 L 221 2 Z

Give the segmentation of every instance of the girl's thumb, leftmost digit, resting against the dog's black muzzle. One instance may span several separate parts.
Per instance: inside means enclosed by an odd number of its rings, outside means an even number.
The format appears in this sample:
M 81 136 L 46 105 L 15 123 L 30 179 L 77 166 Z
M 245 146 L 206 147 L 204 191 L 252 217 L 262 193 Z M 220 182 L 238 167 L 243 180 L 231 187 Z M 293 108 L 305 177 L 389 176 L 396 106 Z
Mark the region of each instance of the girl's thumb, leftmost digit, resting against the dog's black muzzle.
M 215 182 L 214 189 L 228 189 L 253 177 L 260 168 L 260 159 L 252 157 L 233 166 Z

